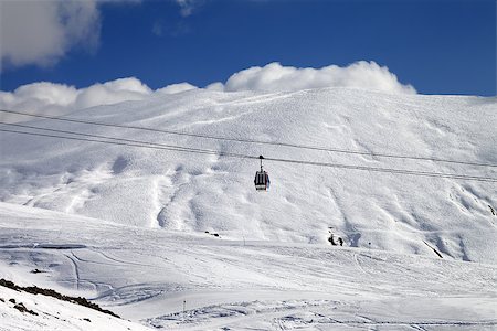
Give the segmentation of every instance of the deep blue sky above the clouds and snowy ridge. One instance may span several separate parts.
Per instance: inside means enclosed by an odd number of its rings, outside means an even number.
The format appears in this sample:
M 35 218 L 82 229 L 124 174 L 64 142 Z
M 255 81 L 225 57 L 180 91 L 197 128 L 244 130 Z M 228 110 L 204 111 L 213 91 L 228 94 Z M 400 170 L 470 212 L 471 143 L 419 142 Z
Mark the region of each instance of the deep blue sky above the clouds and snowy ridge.
M 130 76 L 151 88 L 180 82 L 205 86 L 272 62 L 322 67 L 364 60 L 388 66 L 421 94 L 496 94 L 496 1 L 156 0 L 95 6 L 95 43 L 66 46 L 50 64 L 4 61 L 1 89 L 40 81 L 85 87 Z

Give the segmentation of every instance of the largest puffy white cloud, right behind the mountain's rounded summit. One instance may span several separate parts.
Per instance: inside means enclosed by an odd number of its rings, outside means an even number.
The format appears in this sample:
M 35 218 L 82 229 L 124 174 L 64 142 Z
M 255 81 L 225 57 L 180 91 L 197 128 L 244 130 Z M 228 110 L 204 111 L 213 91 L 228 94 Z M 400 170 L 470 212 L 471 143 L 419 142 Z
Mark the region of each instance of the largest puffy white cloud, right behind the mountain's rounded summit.
M 415 94 L 414 87 L 403 85 L 388 67 L 376 62 L 360 61 L 347 67 L 329 65 L 321 68 L 297 68 L 274 62 L 233 74 L 224 90 L 299 90 L 321 87 L 351 87 L 392 94 Z

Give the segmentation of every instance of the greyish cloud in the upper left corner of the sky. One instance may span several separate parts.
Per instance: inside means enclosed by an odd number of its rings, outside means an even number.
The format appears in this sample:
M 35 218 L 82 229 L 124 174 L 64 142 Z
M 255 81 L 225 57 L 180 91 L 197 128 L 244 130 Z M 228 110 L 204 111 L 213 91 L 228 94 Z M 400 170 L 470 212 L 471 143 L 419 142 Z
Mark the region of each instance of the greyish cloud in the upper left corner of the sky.
M 12 66 L 50 66 L 74 46 L 98 46 L 101 17 L 89 1 L 1 1 L 0 53 Z

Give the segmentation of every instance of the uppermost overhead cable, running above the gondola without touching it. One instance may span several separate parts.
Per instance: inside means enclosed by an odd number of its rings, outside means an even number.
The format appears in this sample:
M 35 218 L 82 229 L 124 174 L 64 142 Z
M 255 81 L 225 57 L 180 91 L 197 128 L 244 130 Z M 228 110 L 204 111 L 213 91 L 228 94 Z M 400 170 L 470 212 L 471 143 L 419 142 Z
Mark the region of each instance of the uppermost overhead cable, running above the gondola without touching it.
M 14 111 L 14 110 L 7 110 L 7 109 L 0 109 L 0 111 L 1 113 L 8 113 L 8 114 L 21 115 L 21 116 L 31 116 L 31 117 L 44 118 L 44 119 L 50 119 L 50 120 L 60 120 L 60 121 L 67 121 L 67 122 L 78 122 L 78 124 L 105 126 L 105 127 L 115 127 L 115 128 L 125 128 L 125 129 L 136 129 L 136 130 L 145 130 L 145 131 L 161 132 L 161 134 L 168 134 L 168 135 L 187 136 L 187 137 L 194 137 L 194 138 L 202 138 L 202 139 L 235 141 L 235 142 L 243 142 L 243 143 L 260 143 L 260 145 L 269 145 L 269 146 L 281 146 L 281 147 L 290 147 L 290 148 L 298 148 L 298 149 L 307 149 L 307 150 L 318 150 L 318 151 L 347 153 L 347 154 L 369 156 L 369 157 L 377 157 L 377 158 L 391 158 L 391 159 L 404 159 L 404 160 L 422 160 L 422 161 L 455 163 L 455 164 L 476 166 L 476 167 L 497 167 L 497 164 L 494 164 L 494 163 L 482 163 L 482 162 L 472 162 L 472 161 L 462 161 L 462 160 L 452 160 L 452 159 L 442 159 L 442 158 L 431 158 L 431 157 L 419 157 L 419 156 L 402 156 L 402 154 L 369 152 L 369 151 L 359 151 L 359 150 L 349 150 L 349 149 L 339 149 L 339 148 L 326 148 L 326 147 L 307 146 L 307 145 L 299 145 L 299 143 L 288 143 L 288 142 L 277 142 L 277 141 L 273 142 L 273 141 L 257 140 L 257 139 L 230 138 L 230 137 L 221 137 L 221 136 L 212 136 L 212 135 L 191 134 L 191 132 L 184 132 L 184 131 L 155 129 L 155 128 L 148 128 L 148 127 L 140 127 L 140 126 L 107 124 L 107 122 L 101 122 L 101 121 L 81 120 L 81 119 L 75 119 L 75 118 L 62 118 L 62 117 L 47 116 L 47 115 L 35 115 L 35 114 Z

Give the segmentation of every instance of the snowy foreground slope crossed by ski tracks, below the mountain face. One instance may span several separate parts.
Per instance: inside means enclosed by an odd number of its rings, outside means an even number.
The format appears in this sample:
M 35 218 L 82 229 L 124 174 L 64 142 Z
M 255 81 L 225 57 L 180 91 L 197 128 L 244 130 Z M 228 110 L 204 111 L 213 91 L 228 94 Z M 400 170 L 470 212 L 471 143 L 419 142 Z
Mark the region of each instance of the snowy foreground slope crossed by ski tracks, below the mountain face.
M 85 296 L 150 328 L 497 327 L 495 265 L 319 244 L 226 241 L 7 203 L 0 203 L 0 277 Z M 0 297 L 13 296 L 0 288 Z M 38 297 L 15 299 L 29 309 L 61 311 L 64 330 L 91 330 L 82 318 L 92 325 L 103 322 L 82 308 Z M 2 305 L 7 319 L 0 329 L 42 323 Z M 116 327 L 108 330 L 120 330 L 114 319 L 108 322 Z

